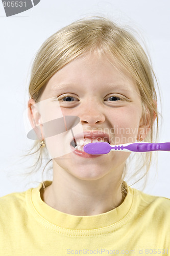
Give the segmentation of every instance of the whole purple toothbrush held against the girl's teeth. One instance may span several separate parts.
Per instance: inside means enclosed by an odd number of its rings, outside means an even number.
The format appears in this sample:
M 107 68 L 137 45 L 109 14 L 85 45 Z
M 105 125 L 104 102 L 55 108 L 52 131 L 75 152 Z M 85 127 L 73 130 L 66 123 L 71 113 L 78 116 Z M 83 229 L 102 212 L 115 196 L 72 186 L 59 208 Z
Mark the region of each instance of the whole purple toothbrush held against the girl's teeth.
M 165 143 L 127 143 L 120 145 L 110 145 L 107 142 L 88 143 L 84 146 L 84 151 L 90 155 L 108 154 L 112 150 L 127 152 L 150 152 L 150 151 L 170 151 L 170 142 Z

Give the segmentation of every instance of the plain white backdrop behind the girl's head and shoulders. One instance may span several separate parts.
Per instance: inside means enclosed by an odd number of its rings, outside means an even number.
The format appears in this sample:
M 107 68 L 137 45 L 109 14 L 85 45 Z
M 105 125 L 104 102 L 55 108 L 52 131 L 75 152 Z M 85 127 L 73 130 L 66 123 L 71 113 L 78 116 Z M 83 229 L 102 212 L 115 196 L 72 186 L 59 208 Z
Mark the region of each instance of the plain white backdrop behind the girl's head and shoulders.
M 37 186 L 41 176 L 23 178 L 32 158 L 21 161 L 31 145 L 23 126 L 27 108 L 29 72 L 33 58 L 44 42 L 60 28 L 85 16 L 105 16 L 129 25 L 144 38 L 161 90 L 162 116 L 159 142 L 170 142 L 169 60 L 170 4 L 168 0 L 62 0 L 44 1 L 20 14 L 6 17 L 0 3 L 1 139 L 0 196 Z M 160 111 L 160 103 L 158 102 Z M 156 159 L 154 159 L 156 162 Z M 170 152 L 159 152 L 158 164 L 150 170 L 145 193 L 170 198 Z M 156 173 L 157 166 L 157 173 Z M 30 182 L 30 183 L 29 183 Z M 138 184 L 134 187 L 138 188 Z

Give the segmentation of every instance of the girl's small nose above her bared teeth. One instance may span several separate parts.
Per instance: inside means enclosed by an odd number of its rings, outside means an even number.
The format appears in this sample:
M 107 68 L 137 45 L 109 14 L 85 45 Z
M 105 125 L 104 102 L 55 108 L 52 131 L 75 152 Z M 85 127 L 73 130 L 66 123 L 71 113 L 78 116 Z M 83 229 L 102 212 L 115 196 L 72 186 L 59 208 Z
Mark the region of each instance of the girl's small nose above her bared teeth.
M 82 124 L 94 125 L 105 121 L 105 114 L 102 106 L 96 102 L 86 102 L 80 110 L 80 120 Z

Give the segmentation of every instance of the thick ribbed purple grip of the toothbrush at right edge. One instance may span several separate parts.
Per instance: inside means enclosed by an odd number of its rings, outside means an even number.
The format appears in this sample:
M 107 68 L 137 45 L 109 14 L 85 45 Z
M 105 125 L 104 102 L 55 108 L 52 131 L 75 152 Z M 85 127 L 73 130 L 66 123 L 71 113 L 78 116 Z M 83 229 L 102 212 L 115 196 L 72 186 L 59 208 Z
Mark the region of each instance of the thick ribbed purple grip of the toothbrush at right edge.
M 150 152 L 150 151 L 170 151 L 170 142 L 165 143 L 132 143 L 128 146 L 124 146 L 127 150 L 133 152 Z

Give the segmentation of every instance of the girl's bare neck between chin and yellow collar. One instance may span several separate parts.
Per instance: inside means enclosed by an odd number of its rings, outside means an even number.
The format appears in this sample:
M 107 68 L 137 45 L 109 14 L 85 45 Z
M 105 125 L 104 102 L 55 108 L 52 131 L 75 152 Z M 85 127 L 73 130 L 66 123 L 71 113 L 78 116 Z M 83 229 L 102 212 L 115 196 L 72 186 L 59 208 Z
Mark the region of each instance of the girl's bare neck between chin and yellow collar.
M 111 177 L 112 176 L 112 177 Z M 53 182 L 43 191 L 42 200 L 56 210 L 76 216 L 99 215 L 119 206 L 121 177 L 114 174 L 98 180 L 80 180 L 63 169 L 54 170 Z

